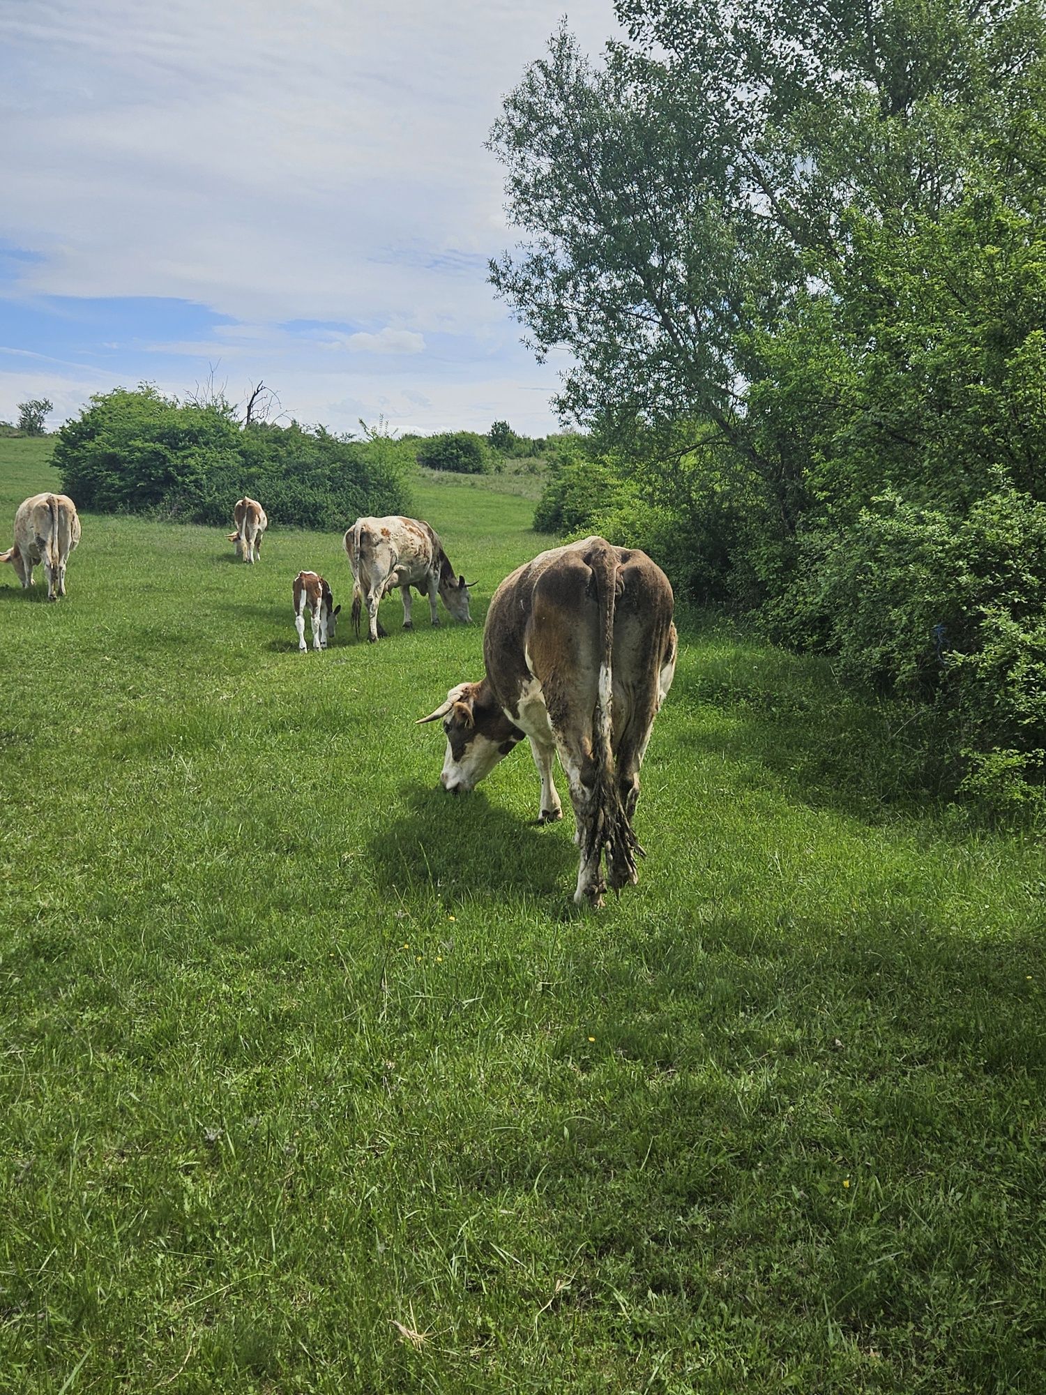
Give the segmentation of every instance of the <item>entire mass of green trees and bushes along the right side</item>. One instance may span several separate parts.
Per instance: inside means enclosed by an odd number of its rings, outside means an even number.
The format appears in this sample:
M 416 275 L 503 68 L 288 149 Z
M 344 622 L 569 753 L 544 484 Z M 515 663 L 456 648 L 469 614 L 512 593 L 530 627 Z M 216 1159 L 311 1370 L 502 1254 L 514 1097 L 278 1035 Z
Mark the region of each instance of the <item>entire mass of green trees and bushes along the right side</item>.
M 491 138 L 530 233 L 492 280 L 540 354 L 570 349 L 559 406 L 602 444 L 540 520 L 671 544 L 682 589 L 918 696 L 957 780 L 1024 798 L 1046 759 L 1040 4 L 616 8 L 602 67 L 561 32 Z

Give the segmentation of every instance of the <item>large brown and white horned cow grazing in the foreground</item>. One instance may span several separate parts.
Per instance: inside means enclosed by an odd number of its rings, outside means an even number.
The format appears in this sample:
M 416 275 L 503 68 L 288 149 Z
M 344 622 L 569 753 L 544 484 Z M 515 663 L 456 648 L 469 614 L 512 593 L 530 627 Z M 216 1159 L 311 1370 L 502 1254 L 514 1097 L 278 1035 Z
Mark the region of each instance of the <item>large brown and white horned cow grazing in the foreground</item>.
M 672 587 L 646 552 L 586 537 L 506 578 L 483 635 L 487 675 L 421 721 L 444 723 L 445 790 L 471 790 L 527 737 L 540 823 L 562 817 L 556 752 L 570 783 L 580 868 L 575 901 L 636 880 L 639 767 L 675 672 Z M 602 857 L 607 855 L 607 879 Z

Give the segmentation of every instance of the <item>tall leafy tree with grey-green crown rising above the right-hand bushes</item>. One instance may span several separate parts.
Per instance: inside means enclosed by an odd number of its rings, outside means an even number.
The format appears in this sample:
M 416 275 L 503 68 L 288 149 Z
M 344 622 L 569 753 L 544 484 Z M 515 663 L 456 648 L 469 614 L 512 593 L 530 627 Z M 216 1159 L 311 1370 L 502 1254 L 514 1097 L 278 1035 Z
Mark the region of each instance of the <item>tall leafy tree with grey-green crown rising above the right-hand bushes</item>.
M 785 533 L 870 488 L 861 460 L 954 462 L 933 417 L 968 381 L 994 396 L 958 449 L 1006 437 L 1042 311 L 1038 0 L 616 10 L 628 39 L 602 64 L 561 31 L 491 135 L 527 234 L 491 278 L 540 356 L 570 349 L 559 409 L 618 438 L 696 423 Z M 1001 318 L 989 227 L 1031 271 Z

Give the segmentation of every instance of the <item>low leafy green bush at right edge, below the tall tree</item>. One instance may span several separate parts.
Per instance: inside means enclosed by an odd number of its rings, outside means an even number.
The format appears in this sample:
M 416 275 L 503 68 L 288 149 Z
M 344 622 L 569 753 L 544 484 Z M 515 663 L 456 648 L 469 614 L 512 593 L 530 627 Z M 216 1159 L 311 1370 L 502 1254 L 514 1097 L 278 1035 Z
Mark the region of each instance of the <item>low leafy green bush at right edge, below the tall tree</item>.
M 775 638 L 943 717 L 958 788 L 1046 804 L 1046 504 L 1001 480 L 965 516 L 886 495 L 798 558 L 761 611 Z

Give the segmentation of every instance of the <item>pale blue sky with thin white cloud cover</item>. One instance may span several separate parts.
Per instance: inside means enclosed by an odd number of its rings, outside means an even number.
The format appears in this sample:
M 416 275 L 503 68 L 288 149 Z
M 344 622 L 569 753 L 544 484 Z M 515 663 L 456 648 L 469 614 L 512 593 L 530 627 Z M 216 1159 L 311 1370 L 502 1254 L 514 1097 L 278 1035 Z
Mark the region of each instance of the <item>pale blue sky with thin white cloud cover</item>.
M 555 430 L 484 141 L 563 17 L 618 32 L 611 0 L 0 0 L 0 420 L 264 379 L 332 431 Z

